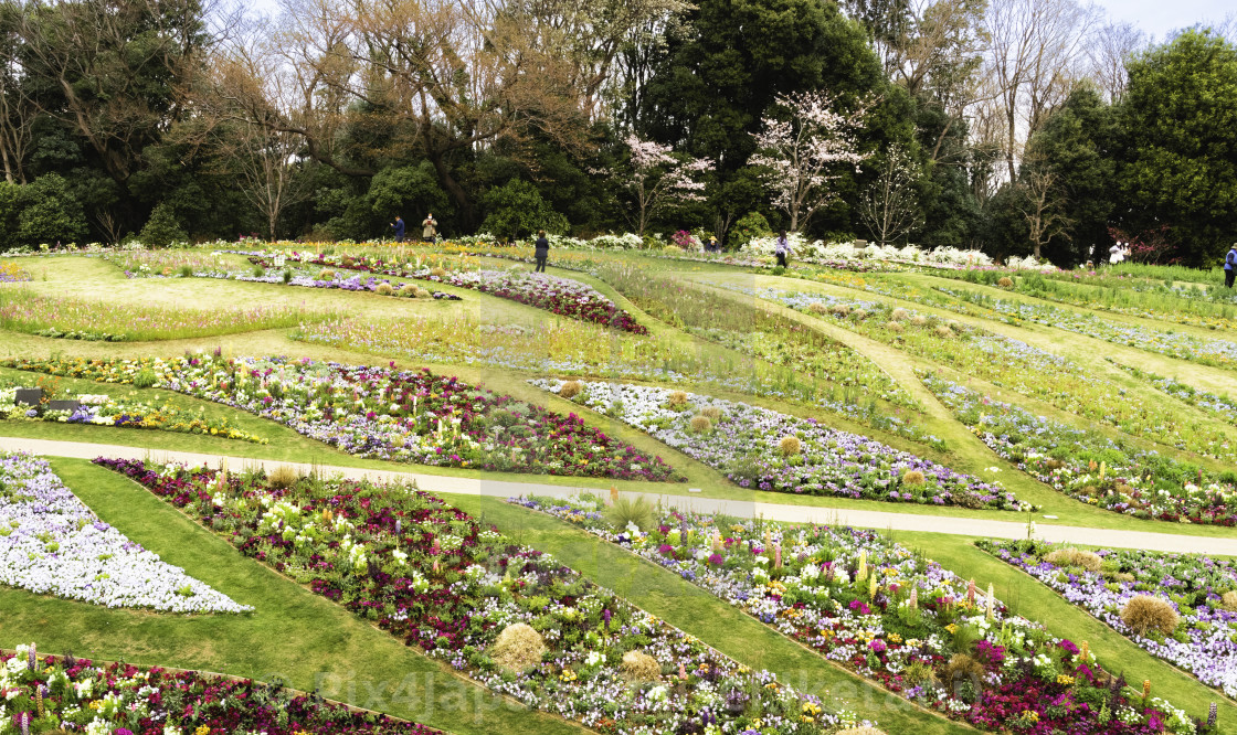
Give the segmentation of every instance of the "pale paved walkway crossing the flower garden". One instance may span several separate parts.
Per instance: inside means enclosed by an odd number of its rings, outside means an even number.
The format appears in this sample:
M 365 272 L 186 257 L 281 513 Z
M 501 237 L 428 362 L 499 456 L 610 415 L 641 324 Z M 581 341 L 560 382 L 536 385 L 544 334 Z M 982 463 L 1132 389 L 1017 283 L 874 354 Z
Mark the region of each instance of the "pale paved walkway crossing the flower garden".
M 99 456 L 105 456 L 148 460 L 153 462 L 183 462 L 188 464 L 208 463 L 212 466 L 218 466 L 220 461 L 226 461 L 228 466 L 233 469 L 242 469 L 246 467 L 263 467 L 266 469 L 273 469 L 287 464 L 296 467 L 304 473 L 317 469 L 327 476 L 339 473 L 344 477 L 354 479 L 366 478 L 371 481 L 416 482 L 417 487 L 432 493 L 486 498 L 510 498 L 512 495 L 528 494 L 567 497 L 579 493 L 581 489 L 594 493 L 597 492 L 596 488 L 550 485 L 536 482 L 510 482 L 466 477 L 444 477 L 419 472 L 298 464 L 294 462 L 280 462 L 273 460 L 199 455 L 194 452 L 169 452 L 163 450 L 143 450 L 141 447 L 85 443 L 75 441 L 51 441 L 41 439 L 0 437 L 0 450 L 26 451 L 35 455 L 74 457 L 79 460 L 93 460 Z M 661 493 L 625 492 L 622 494 L 630 497 L 643 495 L 649 500 L 661 500 L 663 505 L 670 505 L 674 508 L 703 513 L 725 513 L 738 518 L 755 518 L 758 515 L 769 520 L 779 521 L 850 525 L 866 529 L 892 529 L 896 531 L 929 531 L 934 534 L 956 534 L 962 536 L 982 536 L 991 539 L 1023 539 L 1027 536 L 1027 525 L 1018 521 L 914 515 L 908 513 L 887 513 L 883 510 L 815 508 L 807 505 L 784 505 L 779 503 L 719 500 L 694 495 L 663 495 Z M 1047 541 L 1086 544 L 1090 546 L 1112 546 L 1121 548 L 1145 548 L 1149 551 L 1237 556 L 1237 537 L 1211 539 L 1176 534 L 1155 534 L 1148 531 L 1089 529 L 1081 526 L 1039 523 L 1043 519 L 1037 520 L 1035 537 Z

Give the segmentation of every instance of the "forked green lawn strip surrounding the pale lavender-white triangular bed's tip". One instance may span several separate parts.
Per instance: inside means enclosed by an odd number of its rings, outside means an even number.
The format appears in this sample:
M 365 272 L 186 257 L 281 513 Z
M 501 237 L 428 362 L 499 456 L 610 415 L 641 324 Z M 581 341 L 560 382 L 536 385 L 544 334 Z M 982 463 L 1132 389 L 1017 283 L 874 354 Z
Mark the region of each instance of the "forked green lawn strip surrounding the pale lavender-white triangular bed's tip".
M 53 469 L 104 521 L 163 561 L 254 605 L 246 615 L 165 615 L 0 589 L 5 647 L 37 641 L 45 651 L 283 678 L 366 709 L 460 734 L 539 735 L 581 729 L 533 713 L 466 682 L 344 608 L 244 557 L 127 478 L 79 460 Z

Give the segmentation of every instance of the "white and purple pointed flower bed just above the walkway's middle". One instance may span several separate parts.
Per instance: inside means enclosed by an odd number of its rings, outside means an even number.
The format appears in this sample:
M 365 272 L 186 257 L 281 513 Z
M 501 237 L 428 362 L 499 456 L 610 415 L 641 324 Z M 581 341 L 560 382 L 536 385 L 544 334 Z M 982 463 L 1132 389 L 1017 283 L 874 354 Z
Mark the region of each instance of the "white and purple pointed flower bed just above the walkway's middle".
M 532 384 L 552 393 L 563 387 L 559 380 Z M 725 472 L 740 487 L 967 508 L 1019 505 L 996 485 L 814 419 L 667 388 L 600 382 L 583 388 L 573 400 Z

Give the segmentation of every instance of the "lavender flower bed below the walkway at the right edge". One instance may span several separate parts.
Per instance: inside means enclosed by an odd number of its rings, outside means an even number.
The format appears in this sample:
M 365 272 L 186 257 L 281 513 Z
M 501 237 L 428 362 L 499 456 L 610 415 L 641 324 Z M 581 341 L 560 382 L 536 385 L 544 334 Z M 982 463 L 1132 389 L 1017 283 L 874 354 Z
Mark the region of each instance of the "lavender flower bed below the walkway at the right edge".
M 1047 542 L 976 545 L 1051 587 L 1153 656 L 1237 697 L 1237 610 L 1222 599 L 1237 589 L 1237 563 L 1188 553 L 1101 548 L 1096 552 L 1100 569 L 1086 569 L 1070 566 L 1068 556 L 1054 557 L 1058 563 L 1045 560 L 1056 548 Z M 1180 621 L 1171 634 L 1150 629 L 1138 635 L 1122 620 L 1121 610 L 1138 595 L 1163 599 L 1176 610 Z

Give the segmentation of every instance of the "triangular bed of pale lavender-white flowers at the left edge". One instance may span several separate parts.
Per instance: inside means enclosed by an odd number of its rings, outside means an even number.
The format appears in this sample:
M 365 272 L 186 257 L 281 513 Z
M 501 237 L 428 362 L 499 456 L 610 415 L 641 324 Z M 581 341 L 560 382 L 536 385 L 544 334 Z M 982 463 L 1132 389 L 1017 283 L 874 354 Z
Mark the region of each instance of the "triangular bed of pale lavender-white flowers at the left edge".
M 109 608 L 242 613 L 254 608 L 160 561 L 99 520 L 30 455 L 0 455 L 0 583 Z

